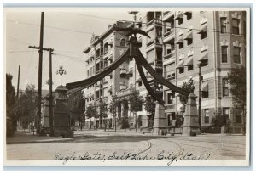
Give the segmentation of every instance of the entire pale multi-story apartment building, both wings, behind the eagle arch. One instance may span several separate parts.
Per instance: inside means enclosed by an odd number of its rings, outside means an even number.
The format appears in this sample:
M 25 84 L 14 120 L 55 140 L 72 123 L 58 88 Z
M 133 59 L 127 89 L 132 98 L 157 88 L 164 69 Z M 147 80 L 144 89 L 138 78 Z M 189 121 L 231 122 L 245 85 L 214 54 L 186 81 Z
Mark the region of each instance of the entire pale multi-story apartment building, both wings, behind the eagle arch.
M 203 129 L 216 121 L 219 125 L 230 121 L 234 126 L 241 126 L 241 110 L 233 107 L 226 80 L 232 68 L 246 65 L 246 13 L 165 11 L 146 12 L 140 16 L 139 27 L 151 37 L 138 36 L 138 41 L 142 42 L 141 52 L 154 70 L 173 84 L 180 87 L 189 79 L 195 82 L 194 93 L 201 95 L 201 103 L 199 98 L 197 103 L 201 105 Z M 90 47 L 84 50 L 88 56 L 87 76 L 95 75 L 117 59 L 127 48 L 126 42 L 125 34 L 111 30 L 111 26 L 102 36 L 92 36 Z M 154 86 L 154 79 L 147 72 L 145 74 Z M 86 105 L 101 97 L 109 103 L 113 94 L 122 97 L 130 93 L 129 87 L 135 87 L 143 97 L 147 94 L 134 60 L 127 61 L 102 82 L 87 88 Z M 176 126 L 176 116 L 183 112 L 183 104 L 177 93 L 166 87 L 163 91 L 167 126 Z M 122 107 L 118 110 L 122 116 Z M 152 126 L 153 118 L 145 110 L 137 115 L 141 119 L 138 126 Z M 111 119 L 111 115 L 108 118 Z M 134 126 L 133 123 L 131 119 L 130 125 Z

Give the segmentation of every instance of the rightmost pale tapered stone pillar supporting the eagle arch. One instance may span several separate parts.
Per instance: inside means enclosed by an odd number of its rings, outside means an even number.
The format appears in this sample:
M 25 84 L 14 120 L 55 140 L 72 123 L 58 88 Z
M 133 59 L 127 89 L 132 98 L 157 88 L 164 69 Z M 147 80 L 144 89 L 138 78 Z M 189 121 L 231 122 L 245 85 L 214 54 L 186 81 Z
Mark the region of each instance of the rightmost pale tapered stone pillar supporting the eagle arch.
M 188 103 L 186 104 L 183 124 L 183 135 L 195 136 L 200 134 L 198 111 L 196 107 L 196 95 L 189 94 Z

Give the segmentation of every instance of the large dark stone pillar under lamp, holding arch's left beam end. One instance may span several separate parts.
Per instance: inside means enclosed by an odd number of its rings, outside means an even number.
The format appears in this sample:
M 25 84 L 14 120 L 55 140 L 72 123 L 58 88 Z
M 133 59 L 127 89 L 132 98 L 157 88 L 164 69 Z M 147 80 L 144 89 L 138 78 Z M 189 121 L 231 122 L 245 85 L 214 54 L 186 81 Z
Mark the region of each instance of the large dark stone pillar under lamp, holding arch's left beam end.
M 54 136 L 73 137 L 73 131 L 70 126 L 71 118 L 68 114 L 67 88 L 59 86 L 55 90 L 55 93 Z

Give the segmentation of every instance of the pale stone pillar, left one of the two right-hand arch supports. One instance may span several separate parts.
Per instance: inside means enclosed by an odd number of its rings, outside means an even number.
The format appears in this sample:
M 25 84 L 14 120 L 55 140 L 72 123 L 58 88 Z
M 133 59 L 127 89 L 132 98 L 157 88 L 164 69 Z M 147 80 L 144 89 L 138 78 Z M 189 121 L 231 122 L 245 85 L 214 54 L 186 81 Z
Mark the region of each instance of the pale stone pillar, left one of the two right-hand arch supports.
M 162 104 L 159 104 L 158 101 L 155 102 L 153 134 L 154 135 L 166 134 L 165 106 Z

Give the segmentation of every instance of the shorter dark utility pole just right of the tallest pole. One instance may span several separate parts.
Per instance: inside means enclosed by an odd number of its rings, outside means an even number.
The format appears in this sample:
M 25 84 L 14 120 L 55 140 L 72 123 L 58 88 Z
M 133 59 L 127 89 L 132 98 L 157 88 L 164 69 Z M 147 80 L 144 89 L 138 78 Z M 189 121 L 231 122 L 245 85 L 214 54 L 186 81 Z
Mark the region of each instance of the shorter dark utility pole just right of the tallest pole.
M 53 97 L 52 97 L 52 59 L 54 49 L 49 48 L 49 136 L 54 135 L 53 129 Z

